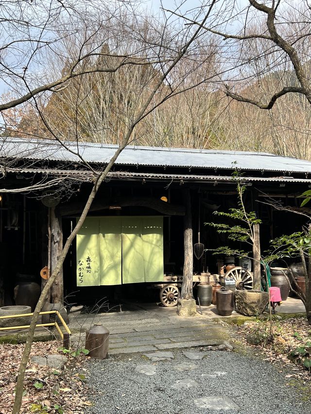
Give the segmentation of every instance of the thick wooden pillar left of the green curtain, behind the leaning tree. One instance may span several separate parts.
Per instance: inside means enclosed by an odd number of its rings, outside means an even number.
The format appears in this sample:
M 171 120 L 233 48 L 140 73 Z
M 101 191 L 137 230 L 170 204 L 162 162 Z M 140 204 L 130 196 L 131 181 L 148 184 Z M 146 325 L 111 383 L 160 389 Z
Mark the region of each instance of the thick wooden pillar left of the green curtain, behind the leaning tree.
M 51 275 L 56 267 L 59 256 L 63 250 L 63 231 L 61 215 L 55 213 L 55 207 L 51 207 Z M 58 273 L 51 288 L 51 302 L 63 303 L 64 282 L 63 269 Z

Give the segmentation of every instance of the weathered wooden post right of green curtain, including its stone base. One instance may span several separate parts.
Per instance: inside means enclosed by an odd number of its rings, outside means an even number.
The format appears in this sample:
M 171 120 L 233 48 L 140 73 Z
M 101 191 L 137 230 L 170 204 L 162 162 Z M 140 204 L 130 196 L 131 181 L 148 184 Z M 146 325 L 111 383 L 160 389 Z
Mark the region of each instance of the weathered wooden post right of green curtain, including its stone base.
M 181 298 L 177 302 L 177 314 L 180 316 L 196 315 L 196 304 L 192 298 L 193 279 L 193 241 L 192 241 L 192 216 L 190 189 L 183 190 L 184 205 L 184 270 L 181 285 Z

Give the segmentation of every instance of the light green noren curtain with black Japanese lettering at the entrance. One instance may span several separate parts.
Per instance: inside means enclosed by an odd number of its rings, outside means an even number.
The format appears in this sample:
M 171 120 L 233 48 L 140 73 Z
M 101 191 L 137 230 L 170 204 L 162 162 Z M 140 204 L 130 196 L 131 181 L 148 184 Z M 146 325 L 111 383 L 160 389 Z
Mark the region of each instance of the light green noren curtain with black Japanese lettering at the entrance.
M 77 235 L 78 286 L 160 281 L 163 217 L 86 218 Z

